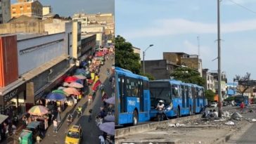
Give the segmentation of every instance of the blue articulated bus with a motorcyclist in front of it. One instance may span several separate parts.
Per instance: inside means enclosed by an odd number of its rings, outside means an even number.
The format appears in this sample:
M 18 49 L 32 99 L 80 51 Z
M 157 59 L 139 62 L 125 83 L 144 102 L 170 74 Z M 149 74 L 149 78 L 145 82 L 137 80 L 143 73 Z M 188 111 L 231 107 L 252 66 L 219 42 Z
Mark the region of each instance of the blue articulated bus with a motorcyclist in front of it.
M 159 100 L 165 103 L 167 117 L 181 117 L 196 114 L 205 107 L 204 89 L 196 84 L 187 84 L 174 79 L 149 82 L 151 91 L 151 118 L 157 117 L 156 105 Z

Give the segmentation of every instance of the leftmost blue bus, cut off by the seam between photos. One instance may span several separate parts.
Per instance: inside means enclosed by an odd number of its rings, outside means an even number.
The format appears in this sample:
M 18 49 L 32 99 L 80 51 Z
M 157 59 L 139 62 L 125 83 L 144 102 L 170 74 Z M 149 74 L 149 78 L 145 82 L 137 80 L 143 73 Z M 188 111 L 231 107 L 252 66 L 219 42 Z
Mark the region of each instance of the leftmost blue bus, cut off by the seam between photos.
M 150 119 L 148 78 L 115 67 L 115 125 L 146 122 Z

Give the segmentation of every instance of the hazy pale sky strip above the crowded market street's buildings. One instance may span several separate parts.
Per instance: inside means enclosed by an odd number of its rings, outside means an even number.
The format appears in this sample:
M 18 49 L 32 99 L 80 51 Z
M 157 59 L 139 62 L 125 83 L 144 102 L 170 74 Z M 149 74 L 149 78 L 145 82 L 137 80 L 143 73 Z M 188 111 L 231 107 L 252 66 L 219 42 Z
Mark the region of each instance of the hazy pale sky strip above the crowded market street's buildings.
M 51 5 L 53 13 L 72 16 L 74 13 L 114 13 L 115 0 L 39 0 L 43 5 Z M 15 3 L 16 0 L 11 0 Z

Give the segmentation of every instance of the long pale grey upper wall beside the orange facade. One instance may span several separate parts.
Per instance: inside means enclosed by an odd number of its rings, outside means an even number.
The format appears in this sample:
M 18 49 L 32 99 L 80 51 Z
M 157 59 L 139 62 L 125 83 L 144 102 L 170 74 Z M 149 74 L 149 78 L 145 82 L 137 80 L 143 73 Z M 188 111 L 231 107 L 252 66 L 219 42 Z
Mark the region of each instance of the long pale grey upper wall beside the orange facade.
M 59 33 L 18 41 L 18 74 L 24 74 L 67 53 L 64 37 L 65 33 Z

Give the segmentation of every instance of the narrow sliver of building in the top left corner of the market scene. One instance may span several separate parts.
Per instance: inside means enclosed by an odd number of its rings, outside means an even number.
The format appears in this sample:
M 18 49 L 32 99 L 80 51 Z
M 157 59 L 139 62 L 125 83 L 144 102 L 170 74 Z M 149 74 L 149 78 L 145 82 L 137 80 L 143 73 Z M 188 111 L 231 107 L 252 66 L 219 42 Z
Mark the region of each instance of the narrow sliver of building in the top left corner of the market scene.
M 11 0 L 0 1 L 0 24 L 11 19 Z

